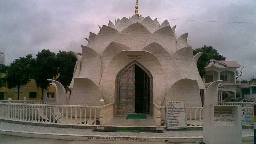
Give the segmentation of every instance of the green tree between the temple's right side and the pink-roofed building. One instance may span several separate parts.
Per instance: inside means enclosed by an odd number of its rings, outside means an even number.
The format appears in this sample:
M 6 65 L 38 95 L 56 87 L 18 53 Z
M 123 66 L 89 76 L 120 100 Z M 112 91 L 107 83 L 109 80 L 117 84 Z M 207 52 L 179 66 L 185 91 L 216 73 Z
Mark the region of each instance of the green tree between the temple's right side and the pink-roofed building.
M 215 59 L 215 60 L 226 59 L 224 56 L 220 55 L 216 49 L 214 49 L 211 46 L 207 47 L 206 45 L 204 45 L 204 47 L 200 49 L 195 49 L 193 50 L 193 52 L 194 52 L 194 56 L 199 52 L 204 52 L 197 62 L 197 68 L 201 77 L 206 75 L 205 67 L 207 67 L 210 59 Z

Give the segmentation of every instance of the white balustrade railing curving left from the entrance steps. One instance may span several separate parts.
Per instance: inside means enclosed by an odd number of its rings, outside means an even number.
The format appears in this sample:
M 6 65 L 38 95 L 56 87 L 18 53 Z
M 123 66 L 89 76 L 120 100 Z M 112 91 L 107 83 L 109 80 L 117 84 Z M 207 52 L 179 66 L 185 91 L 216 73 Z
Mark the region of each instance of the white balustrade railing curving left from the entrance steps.
M 13 103 L 12 100 L 0 102 L 0 117 L 17 121 L 102 125 L 113 116 L 114 103 L 104 105 L 103 99 L 100 106 Z

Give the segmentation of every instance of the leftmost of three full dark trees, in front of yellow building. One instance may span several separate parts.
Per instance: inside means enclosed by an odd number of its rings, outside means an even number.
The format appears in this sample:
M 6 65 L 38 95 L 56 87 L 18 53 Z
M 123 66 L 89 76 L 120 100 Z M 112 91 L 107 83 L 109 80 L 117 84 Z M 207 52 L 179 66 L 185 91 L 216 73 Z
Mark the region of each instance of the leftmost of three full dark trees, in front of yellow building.
M 8 88 L 18 86 L 18 99 L 20 86 L 26 85 L 28 82 L 30 82 L 30 72 L 32 70 L 31 63 L 33 63 L 34 60 L 35 59 L 33 59 L 32 54 L 28 54 L 26 57 L 15 59 L 7 70 L 7 86 Z

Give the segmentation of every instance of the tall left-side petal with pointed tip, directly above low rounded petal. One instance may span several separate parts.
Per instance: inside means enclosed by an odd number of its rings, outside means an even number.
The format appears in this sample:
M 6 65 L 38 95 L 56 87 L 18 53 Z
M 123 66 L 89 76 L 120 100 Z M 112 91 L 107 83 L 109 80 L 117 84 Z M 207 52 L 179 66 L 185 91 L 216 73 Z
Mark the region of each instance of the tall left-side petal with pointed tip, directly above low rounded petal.
M 99 86 L 102 76 L 102 65 L 99 54 L 94 49 L 86 46 L 82 46 L 82 53 L 79 77 L 91 79 Z

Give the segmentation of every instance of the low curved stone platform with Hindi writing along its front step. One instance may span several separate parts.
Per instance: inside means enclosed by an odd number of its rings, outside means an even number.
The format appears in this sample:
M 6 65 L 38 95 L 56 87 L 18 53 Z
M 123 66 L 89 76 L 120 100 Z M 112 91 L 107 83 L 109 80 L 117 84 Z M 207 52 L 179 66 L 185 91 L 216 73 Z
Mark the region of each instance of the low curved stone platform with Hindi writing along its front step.
M 49 138 L 63 140 L 111 140 L 111 141 L 144 141 L 144 142 L 196 142 L 203 140 L 202 130 L 152 132 L 94 132 L 92 129 L 43 127 L 22 125 L 0 121 L 0 134 Z M 242 130 L 243 141 L 253 140 L 253 129 Z

